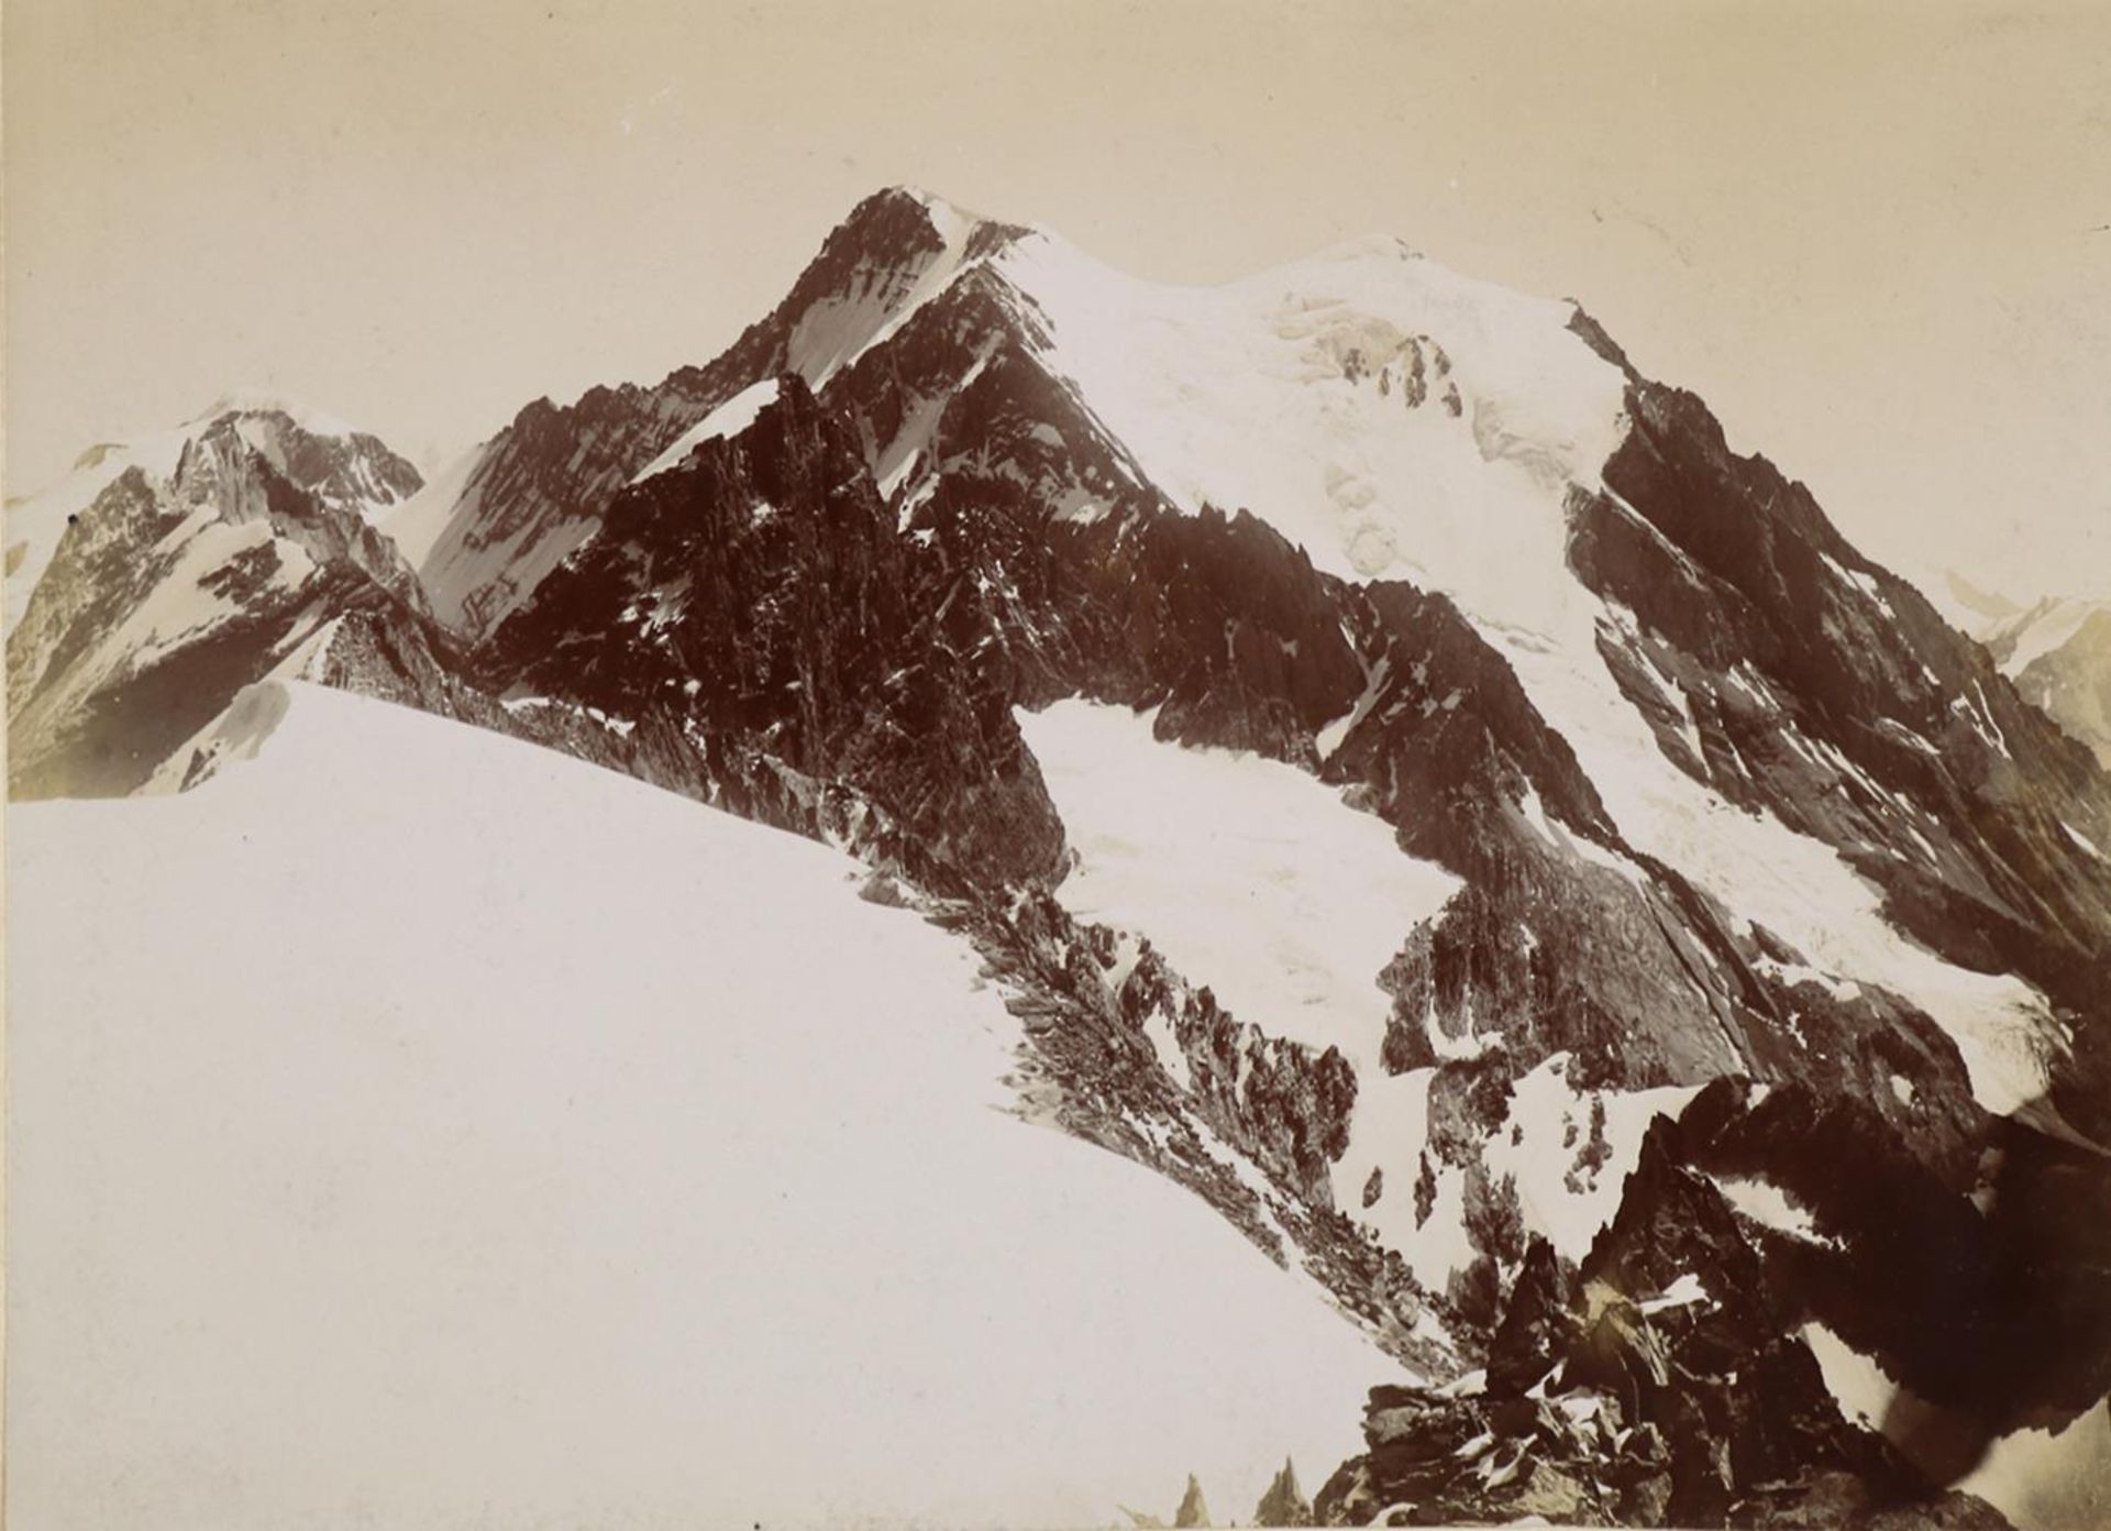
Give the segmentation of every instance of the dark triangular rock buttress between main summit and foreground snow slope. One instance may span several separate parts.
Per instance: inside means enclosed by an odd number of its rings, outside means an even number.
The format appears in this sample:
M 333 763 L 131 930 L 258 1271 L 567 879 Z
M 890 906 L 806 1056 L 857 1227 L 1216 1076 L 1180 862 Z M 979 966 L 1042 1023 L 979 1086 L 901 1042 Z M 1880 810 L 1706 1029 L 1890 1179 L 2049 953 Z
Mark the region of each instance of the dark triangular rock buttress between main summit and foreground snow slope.
M 1005 885 L 1051 872 L 1064 836 L 969 642 L 975 602 L 897 534 L 855 441 L 785 374 L 754 427 L 621 494 L 486 674 L 840 779 Z

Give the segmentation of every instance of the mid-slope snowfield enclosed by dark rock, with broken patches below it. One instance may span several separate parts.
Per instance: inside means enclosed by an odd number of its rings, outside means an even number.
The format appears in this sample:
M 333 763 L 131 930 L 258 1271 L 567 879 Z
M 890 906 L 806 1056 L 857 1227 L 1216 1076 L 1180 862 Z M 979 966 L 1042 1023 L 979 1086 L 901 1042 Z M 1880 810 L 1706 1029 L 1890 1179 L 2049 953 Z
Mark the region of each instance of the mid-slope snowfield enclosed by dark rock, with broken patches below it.
M 1465 1172 L 1435 1166 L 1435 1199 L 1416 1225 L 1414 1176 L 1435 1071 L 1385 1073 L 1391 997 L 1378 971 L 1419 921 L 1444 908 L 1459 878 L 1402 851 L 1389 824 L 1296 767 L 1157 741 L 1155 714 L 1058 701 L 1018 718 L 1079 855 L 1058 889 L 1064 908 L 1150 938 L 1182 978 L 1207 984 L 1239 1020 L 1307 1047 L 1340 1047 L 1355 1069 L 1357 1104 L 1349 1149 L 1332 1170 L 1334 1206 L 1400 1250 L 1423 1284 L 1444 1290 L 1473 1261 Z M 1184 1083 L 1178 1045 L 1159 1033 L 1153 1041 Z M 1495 1033 L 1471 1041 L 1499 1045 Z M 1566 1066 L 1560 1054 L 1520 1079 L 1486 1161 L 1514 1176 L 1526 1225 L 1581 1259 L 1619 1208 L 1649 1123 L 1678 1115 L 1695 1090 L 1598 1092 L 1606 1161 L 1571 1187 L 1577 1153 L 1566 1130 L 1587 1128 L 1592 1096 L 1571 1090 Z M 1364 1208 L 1372 1170 L 1385 1172 L 1385 1189 Z

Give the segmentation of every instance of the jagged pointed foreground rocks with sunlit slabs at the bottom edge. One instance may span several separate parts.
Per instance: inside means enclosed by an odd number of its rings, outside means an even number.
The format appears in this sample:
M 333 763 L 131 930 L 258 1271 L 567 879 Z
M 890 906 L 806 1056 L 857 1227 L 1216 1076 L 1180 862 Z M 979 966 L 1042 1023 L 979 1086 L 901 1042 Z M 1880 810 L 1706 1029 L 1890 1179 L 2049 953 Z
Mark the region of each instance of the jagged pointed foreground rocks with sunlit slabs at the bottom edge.
M 1571 1278 L 1533 1246 L 1486 1373 L 1378 1387 L 1328 1525 L 2001 1527 L 1849 1425 L 1714 1185 L 1651 1130 Z

